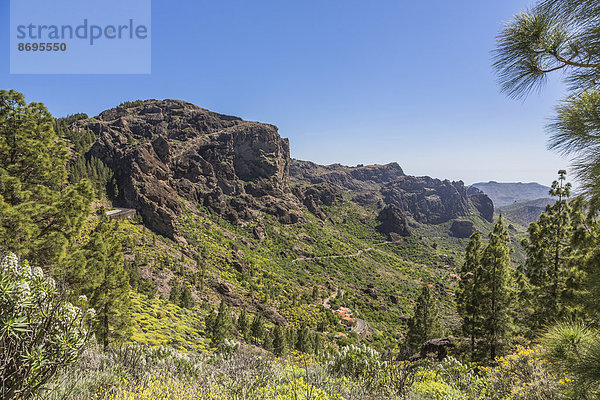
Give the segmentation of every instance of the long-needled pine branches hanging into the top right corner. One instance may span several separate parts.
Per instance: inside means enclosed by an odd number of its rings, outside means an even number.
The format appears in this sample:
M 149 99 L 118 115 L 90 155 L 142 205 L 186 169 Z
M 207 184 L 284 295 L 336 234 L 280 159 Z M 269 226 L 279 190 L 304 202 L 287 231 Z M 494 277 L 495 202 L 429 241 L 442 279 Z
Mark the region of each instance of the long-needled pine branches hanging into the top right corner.
M 600 199 L 599 20 L 597 0 L 538 0 L 504 26 L 494 63 L 511 96 L 527 96 L 551 74 L 565 80 L 569 95 L 548 127 L 550 148 L 570 156 L 594 201 Z

